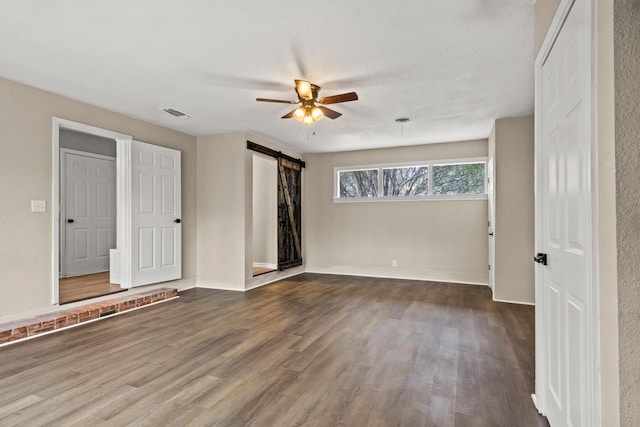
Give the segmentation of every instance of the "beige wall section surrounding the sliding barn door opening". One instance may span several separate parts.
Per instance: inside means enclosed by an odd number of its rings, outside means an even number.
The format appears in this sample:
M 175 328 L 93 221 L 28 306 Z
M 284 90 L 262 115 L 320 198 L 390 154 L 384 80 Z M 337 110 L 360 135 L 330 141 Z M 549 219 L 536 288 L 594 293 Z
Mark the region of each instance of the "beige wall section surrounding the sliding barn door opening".
M 242 291 L 304 271 L 297 267 L 252 277 L 253 151 L 247 150 L 247 140 L 300 157 L 244 132 L 197 138 L 199 287 Z

